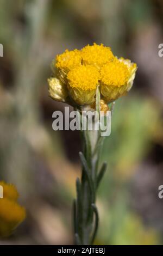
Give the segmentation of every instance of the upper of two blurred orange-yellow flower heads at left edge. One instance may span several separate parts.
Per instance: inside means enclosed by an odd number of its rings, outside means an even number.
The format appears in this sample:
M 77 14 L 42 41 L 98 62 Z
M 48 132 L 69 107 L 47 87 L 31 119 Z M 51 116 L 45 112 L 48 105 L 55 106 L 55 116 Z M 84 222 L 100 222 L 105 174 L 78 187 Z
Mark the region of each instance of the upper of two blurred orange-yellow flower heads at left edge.
M 12 184 L 7 184 L 4 181 L 0 181 L 0 186 L 3 187 L 3 197 L 16 201 L 18 198 L 18 192 L 16 187 Z

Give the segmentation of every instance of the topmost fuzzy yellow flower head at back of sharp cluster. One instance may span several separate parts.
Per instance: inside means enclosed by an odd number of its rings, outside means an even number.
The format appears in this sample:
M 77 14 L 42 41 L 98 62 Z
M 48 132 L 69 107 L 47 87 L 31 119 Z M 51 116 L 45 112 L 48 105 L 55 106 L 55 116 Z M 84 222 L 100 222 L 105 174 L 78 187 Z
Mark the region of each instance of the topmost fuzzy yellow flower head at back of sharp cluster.
M 87 45 L 82 49 L 83 64 L 95 65 L 100 69 L 104 64 L 111 62 L 114 55 L 110 47 L 105 47 L 103 44 Z

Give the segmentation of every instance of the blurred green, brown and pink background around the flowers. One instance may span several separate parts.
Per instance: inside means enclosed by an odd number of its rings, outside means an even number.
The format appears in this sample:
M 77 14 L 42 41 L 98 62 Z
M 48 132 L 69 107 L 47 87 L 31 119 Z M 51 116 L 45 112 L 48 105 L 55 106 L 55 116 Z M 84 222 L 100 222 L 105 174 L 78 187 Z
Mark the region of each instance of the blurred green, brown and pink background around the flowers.
M 56 54 L 93 42 L 139 67 L 103 148 L 96 244 L 163 244 L 163 1 L 1 0 L 0 22 L 0 180 L 17 186 L 28 214 L 0 244 L 73 244 L 82 147 L 77 131 L 52 130 L 65 105 L 48 97 L 47 78 Z

